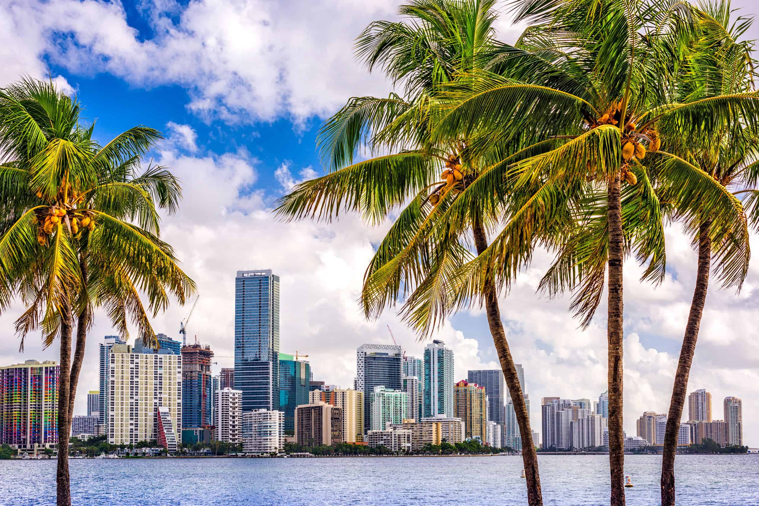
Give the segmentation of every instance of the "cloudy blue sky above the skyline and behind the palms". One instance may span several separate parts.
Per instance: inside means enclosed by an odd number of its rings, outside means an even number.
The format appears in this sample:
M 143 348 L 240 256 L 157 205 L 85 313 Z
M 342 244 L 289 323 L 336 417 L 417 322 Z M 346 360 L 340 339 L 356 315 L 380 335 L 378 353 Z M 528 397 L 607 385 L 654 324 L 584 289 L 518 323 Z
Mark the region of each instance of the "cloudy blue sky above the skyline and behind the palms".
M 230 366 L 235 270 L 275 269 L 282 277 L 282 351 L 309 354 L 316 379 L 348 386 L 355 348 L 389 342 L 386 325 L 409 354 L 424 347 L 392 312 L 366 322 L 356 304 L 373 244 L 389 224 L 370 228 L 351 215 L 331 225 L 283 224 L 270 211 L 293 182 L 321 172 L 315 150 L 321 121 L 350 96 L 391 90 L 381 75 L 354 61 L 351 46 L 371 20 L 395 19 L 396 7 L 395 0 L 0 0 L 0 47 L 11 48 L 0 51 L 0 86 L 50 71 L 62 90 L 79 96 L 87 117 L 97 119 L 99 140 L 136 124 L 162 130 L 166 140 L 155 162 L 185 184 L 181 211 L 164 219 L 163 238 L 175 245 L 201 292 L 188 334 L 212 345 L 219 367 Z M 497 28 L 511 42 L 524 27 L 502 14 Z M 668 231 L 667 250 L 670 275 L 659 288 L 639 284 L 640 269 L 625 266 L 628 434 L 642 411 L 666 412 L 669 404 L 695 257 L 676 229 Z M 512 352 L 524 364 L 534 399 L 534 426 L 540 397 L 597 398 L 606 390 L 605 306 L 581 332 L 568 315 L 568 296 L 539 297 L 535 288 L 550 259 L 537 254 L 501 302 Z M 746 438 L 754 444 L 756 276 L 752 263 L 739 297 L 710 290 L 689 387 L 713 392 L 715 418 L 722 417 L 722 398 L 744 398 Z M 0 316 L 6 329 L 0 364 L 54 359 L 55 350 L 42 350 L 33 338 L 24 356 L 17 353 L 8 329 L 19 310 Z M 156 331 L 177 336 L 186 314 L 187 308 L 172 306 L 156 317 Z M 111 331 L 99 314 L 80 383 L 82 403 L 96 384 L 97 340 Z M 467 369 L 498 367 L 487 320 L 476 308 L 447 321 L 436 338 L 454 349 L 457 379 Z

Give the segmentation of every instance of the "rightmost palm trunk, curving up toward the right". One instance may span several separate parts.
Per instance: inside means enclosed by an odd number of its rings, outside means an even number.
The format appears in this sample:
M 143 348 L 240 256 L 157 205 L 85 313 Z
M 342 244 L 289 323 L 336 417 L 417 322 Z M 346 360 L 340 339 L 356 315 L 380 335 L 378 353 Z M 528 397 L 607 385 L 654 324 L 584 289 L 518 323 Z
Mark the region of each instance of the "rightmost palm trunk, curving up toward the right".
M 691 301 L 691 312 L 685 325 L 685 336 L 682 338 L 680 360 L 677 363 L 675 385 L 672 387 L 672 400 L 669 401 L 669 413 L 664 432 L 664 451 L 662 455 L 662 506 L 675 504 L 675 454 L 677 453 L 677 436 L 680 432 L 680 419 L 685 407 L 685 391 L 688 388 L 688 376 L 691 363 L 696 351 L 698 328 L 701 326 L 701 315 L 704 313 L 704 303 L 707 300 L 709 287 L 709 269 L 711 264 L 711 239 L 709 228 L 711 220 L 701 223 L 698 229 L 698 271 L 696 272 L 696 288 Z

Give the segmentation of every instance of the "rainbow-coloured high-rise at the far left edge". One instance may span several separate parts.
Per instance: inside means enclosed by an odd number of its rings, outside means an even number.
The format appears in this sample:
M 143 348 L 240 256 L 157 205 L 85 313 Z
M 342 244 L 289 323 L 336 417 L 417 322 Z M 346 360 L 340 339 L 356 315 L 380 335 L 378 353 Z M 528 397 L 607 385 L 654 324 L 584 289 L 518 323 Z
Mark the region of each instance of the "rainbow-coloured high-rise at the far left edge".
M 0 445 L 34 451 L 58 445 L 58 374 L 46 360 L 0 367 Z

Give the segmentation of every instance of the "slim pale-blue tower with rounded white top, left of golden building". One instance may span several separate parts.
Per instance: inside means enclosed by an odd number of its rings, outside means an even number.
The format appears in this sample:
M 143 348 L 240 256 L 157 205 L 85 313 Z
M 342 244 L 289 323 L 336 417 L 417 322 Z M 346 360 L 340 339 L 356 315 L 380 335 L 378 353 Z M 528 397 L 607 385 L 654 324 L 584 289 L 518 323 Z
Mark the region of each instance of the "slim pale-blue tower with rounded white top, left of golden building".
M 424 348 L 424 416 L 453 417 L 453 350 L 439 339 Z

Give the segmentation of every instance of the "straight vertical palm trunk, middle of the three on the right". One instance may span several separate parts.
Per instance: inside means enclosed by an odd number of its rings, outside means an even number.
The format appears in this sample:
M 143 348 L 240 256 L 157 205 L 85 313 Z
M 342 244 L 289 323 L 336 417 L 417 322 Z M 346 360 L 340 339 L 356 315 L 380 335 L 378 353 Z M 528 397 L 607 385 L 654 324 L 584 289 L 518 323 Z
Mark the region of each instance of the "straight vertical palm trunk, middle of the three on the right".
M 608 187 L 609 219 L 609 299 L 606 338 L 608 340 L 609 383 L 609 471 L 611 506 L 625 504 L 625 437 L 622 435 L 622 199 L 620 174 L 617 171 Z

